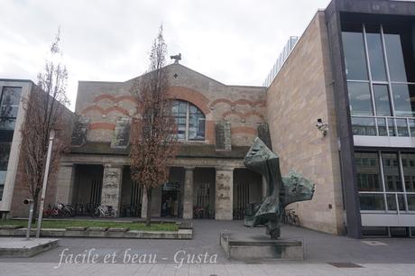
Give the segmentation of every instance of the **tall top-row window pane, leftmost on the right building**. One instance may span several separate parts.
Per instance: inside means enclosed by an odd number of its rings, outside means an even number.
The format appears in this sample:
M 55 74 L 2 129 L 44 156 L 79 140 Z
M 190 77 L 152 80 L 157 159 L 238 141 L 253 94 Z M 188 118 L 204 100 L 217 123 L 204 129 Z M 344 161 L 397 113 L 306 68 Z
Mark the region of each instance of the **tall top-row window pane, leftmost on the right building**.
M 342 32 L 343 50 L 345 53 L 346 78 L 347 79 L 368 79 L 366 58 L 364 56 L 364 35 L 363 27 L 352 26 Z

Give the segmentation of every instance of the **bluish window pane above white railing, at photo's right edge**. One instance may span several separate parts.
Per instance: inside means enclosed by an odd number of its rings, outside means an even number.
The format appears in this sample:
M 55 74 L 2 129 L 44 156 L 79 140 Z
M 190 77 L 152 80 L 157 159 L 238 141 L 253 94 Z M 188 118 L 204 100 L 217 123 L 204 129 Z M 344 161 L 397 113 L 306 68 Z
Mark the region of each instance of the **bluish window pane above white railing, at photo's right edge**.
M 415 86 L 392 84 L 393 105 L 397 116 L 415 116 Z

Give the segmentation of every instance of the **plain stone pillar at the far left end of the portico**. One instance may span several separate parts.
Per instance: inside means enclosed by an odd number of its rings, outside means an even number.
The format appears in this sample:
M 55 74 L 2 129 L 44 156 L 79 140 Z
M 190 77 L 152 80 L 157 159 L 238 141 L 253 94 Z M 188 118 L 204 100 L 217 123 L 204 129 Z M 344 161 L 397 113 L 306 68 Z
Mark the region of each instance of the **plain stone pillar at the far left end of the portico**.
M 75 165 L 72 163 L 61 163 L 56 179 L 55 202 L 63 204 L 72 203 L 72 191 L 75 178 Z

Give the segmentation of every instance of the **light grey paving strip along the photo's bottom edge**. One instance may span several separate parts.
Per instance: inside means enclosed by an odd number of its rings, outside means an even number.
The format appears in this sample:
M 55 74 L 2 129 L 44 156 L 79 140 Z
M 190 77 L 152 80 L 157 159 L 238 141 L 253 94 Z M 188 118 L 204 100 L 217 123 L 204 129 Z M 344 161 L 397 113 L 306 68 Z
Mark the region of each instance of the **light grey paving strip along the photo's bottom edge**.
M 53 263 L 1 263 L 0 275 L 413 275 L 415 264 L 363 264 L 363 268 L 336 268 L 324 263 L 280 264 L 71 264 L 53 268 Z

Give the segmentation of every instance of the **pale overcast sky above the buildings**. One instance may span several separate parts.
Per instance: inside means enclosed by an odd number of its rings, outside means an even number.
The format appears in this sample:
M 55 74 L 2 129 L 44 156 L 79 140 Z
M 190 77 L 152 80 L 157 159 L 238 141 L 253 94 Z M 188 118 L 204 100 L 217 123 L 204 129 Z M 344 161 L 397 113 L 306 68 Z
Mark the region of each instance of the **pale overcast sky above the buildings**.
M 2 0 L 0 78 L 36 81 L 61 28 L 74 109 L 78 80 L 125 81 L 148 67 L 160 24 L 169 55 L 229 85 L 260 86 L 291 35 L 328 0 Z M 169 62 L 171 62 L 169 60 Z

